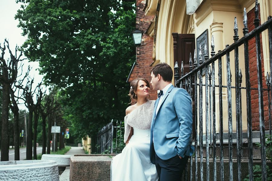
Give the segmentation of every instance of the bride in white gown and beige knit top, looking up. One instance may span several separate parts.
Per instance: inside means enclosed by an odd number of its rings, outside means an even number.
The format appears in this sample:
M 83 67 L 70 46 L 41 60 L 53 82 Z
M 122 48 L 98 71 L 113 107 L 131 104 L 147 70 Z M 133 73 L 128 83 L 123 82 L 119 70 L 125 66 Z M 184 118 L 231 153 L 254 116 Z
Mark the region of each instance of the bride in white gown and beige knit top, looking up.
M 157 181 L 156 167 L 149 158 L 150 128 L 155 101 L 149 97 L 149 83 L 144 78 L 131 82 L 129 96 L 137 103 L 126 109 L 126 143 L 111 164 L 111 181 Z

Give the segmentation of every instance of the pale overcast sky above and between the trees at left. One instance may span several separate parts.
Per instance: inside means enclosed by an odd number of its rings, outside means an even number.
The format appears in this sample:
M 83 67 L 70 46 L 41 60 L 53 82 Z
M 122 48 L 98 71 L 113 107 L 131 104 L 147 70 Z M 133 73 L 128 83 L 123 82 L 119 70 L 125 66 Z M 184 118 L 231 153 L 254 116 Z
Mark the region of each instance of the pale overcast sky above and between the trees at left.
M 22 30 L 17 27 L 18 20 L 14 19 L 14 16 L 20 6 L 21 4 L 17 4 L 15 0 L 0 0 L 0 43 L 2 46 L 6 38 L 9 41 L 9 46 L 13 53 L 15 53 L 16 44 L 21 46 L 27 38 L 21 35 Z M 9 55 L 8 51 L 5 52 L 5 55 L 6 57 Z M 36 70 L 39 68 L 39 63 L 24 60 L 23 71 L 27 70 L 28 65 L 32 67 L 30 77 L 35 77 L 33 87 L 36 87 L 36 85 L 40 83 L 43 78 L 42 75 L 39 75 L 39 71 Z M 22 104 L 19 105 L 19 109 L 26 109 L 26 107 Z

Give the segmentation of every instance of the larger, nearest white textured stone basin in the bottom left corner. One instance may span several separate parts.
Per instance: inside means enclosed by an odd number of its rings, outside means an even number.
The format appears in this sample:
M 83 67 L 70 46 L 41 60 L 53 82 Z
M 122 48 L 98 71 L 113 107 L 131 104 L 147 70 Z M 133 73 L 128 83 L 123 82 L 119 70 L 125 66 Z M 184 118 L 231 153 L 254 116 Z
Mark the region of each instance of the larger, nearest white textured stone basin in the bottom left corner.
M 2 181 L 59 181 L 57 162 L 52 160 L 1 161 Z

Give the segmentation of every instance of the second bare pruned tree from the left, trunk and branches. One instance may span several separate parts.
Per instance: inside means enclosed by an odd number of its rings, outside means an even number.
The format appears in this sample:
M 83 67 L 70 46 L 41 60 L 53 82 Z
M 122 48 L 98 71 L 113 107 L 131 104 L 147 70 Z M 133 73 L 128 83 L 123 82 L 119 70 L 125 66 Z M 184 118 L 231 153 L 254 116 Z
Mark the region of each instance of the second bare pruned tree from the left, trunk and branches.
M 21 68 L 23 68 L 23 66 L 21 65 Z M 19 143 L 19 108 L 18 108 L 18 101 L 19 99 L 21 99 L 22 94 L 20 95 L 20 92 L 18 91 L 18 89 L 20 89 L 22 87 L 22 83 L 24 82 L 24 79 L 28 76 L 30 71 L 30 67 L 28 66 L 28 71 L 25 73 L 24 77 L 21 78 L 19 81 L 14 81 L 14 83 L 11 85 L 10 87 L 10 97 L 11 97 L 11 104 L 10 104 L 10 108 L 11 111 L 13 113 L 13 119 L 14 119 L 14 160 L 20 160 L 20 143 Z M 23 71 L 21 71 L 23 73 Z M 22 75 L 21 73 L 21 75 Z M 18 77 L 20 77 L 21 75 L 19 75 Z M 17 94 L 15 96 L 15 93 Z

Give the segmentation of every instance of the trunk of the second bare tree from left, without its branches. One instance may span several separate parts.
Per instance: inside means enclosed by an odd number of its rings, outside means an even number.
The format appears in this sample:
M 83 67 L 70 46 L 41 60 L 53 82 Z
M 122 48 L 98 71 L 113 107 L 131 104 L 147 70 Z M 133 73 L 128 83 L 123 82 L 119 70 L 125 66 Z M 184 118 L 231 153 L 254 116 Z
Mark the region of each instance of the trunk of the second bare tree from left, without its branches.
M 19 109 L 17 104 L 14 106 L 14 160 L 20 160 L 20 141 L 19 141 Z

